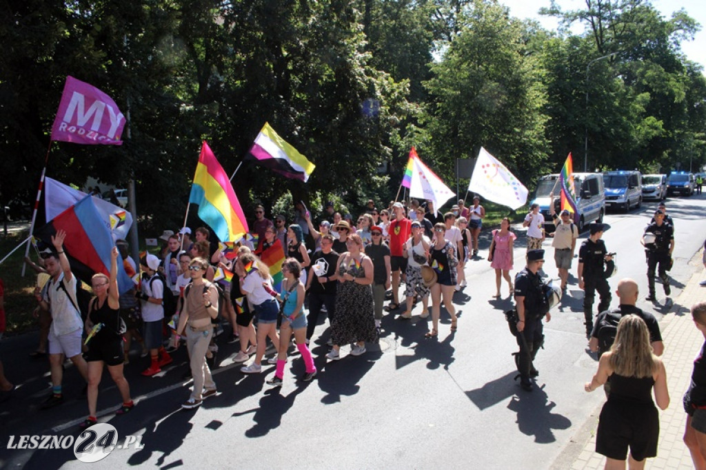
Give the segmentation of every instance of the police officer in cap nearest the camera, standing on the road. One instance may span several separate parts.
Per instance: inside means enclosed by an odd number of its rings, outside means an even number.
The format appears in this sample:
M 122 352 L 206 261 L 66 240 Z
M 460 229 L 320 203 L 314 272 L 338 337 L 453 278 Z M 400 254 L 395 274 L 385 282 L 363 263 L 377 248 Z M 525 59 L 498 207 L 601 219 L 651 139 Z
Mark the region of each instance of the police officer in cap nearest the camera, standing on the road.
M 527 251 L 527 266 L 515 276 L 515 303 L 517 304 L 517 370 L 520 372 L 520 387 L 532 391 L 530 378 L 539 372 L 534 368 L 534 358 L 542 347 L 542 318 L 551 320 L 549 302 L 544 294 L 544 284 L 538 271 L 544 263 L 544 250 Z

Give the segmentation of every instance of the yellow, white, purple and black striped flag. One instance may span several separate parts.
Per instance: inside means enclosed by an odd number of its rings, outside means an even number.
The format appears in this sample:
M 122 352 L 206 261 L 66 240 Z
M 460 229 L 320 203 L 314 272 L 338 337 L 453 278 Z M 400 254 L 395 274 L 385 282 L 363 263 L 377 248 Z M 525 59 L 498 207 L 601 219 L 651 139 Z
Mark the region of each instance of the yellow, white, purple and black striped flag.
M 309 162 L 304 155 L 281 138 L 269 123 L 265 123 L 246 160 L 256 159 L 259 164 L 268 167 L 287 178 L 308 181 L 316 165 Z

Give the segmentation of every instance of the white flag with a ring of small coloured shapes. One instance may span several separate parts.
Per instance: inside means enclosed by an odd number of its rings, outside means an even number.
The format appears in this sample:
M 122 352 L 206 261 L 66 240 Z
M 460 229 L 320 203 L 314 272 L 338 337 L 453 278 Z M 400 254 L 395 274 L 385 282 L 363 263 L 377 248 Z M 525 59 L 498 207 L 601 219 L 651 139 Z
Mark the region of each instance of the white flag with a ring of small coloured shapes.
M 527 203 L 527 188 L 496 157 L 481 147 L 468 191 L 518 209 Z

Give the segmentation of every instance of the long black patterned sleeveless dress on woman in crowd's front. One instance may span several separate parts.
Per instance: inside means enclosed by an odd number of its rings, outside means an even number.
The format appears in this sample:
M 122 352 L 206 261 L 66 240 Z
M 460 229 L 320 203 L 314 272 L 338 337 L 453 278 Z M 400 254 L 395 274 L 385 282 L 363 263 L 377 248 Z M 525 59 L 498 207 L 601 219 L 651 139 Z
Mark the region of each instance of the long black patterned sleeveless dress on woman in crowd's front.
M 365 277 L 363 257 L 354 260 L 345 255 L 338 275 Z M 358 284 L 354 281 L 342 281 L 336 288 L 336 315 L 331 324 L 333 344 L 376 340 L 375 319 L 373 317 L 373 289 L 370 284 Z

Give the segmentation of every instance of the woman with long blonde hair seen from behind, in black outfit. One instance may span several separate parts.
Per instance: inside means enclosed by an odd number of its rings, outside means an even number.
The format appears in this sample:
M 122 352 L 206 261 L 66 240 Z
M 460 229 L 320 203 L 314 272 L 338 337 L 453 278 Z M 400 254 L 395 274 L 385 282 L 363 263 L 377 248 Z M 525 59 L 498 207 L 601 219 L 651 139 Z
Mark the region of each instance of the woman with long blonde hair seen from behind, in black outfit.
M 659 438 L 652 389 L 661 409 L 669 406 L 669 390 L 664 363 L 652 353 L 650 332 L 638 315 L 621 318 L 611 350 L 584 388 L 592 392 L 608 378 L 611 391 L 598 421 L 596 452 L 606 456 L 606 470 L 625 469 L 626 457 L 630 470 L 643 469 L 645 459 L 657 455 Z

